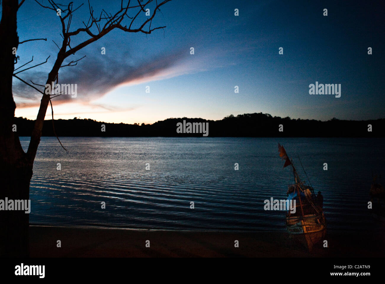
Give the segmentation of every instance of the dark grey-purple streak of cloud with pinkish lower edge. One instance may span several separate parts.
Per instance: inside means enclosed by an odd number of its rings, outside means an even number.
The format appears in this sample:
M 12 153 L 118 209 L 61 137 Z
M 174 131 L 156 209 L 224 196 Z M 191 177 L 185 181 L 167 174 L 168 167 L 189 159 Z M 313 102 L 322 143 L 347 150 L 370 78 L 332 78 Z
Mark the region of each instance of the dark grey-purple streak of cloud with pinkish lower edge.
M 79 61 L 76 66 L 61 68 L 59 71 L 59 84 L 77 84 L 77 100 L 89 102 L 102 97 L 122 83 L 129 83 L 130 81 L 160 74 L 162 71 L 174 66 L 185 54 L 186 51 L 177 51 L 137 62 L 124 56 L 119 60 L 102 54 L 97 57 L 87 56 Z M 72 58 L 70 59 L 72 60 Z M 67 61 L 70 60 L 67 59 Z M 30 80 L 32 80 L 34 83 L 44 85 L 48 74 L 31 70 L 25 74 L 20 73 L 18 76 L 28 83 L 31 83 Z M 36 87 L 42 91 L 44 89 L 41 86 Z M 33 88 L 17 79 L 14 79 L 13 94 L 15 97 L 24 98 L 22 102 L 18 103 L 19 107 L 38 105 L 38 101 L 41 99 L 41 94 L 38 91 L 33 90 Z M 30 103 L 25 99 L 29 99 Z M 71 100 L 71 96 L 61 95 L 53 100 L 63 103 Z

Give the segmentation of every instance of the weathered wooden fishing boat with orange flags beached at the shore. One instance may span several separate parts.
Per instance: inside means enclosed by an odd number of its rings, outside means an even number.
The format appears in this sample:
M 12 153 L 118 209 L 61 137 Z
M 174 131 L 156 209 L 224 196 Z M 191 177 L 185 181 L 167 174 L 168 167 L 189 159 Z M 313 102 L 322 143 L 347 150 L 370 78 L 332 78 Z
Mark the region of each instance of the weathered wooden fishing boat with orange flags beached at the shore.
M 282 160 L 285 160 L 283 167 L 291 166 L 295 181 L 288 186 L 287 196 L 289 202 L 295 201 L 296 210 L 295 213 L 288 211 L 286 214 L 286 228 L 290 235 L 305 237 L 307 247 L 311 250 L 315 243 L 325 237 L 326 233 L 326 220 L 322 208 L 323 197 L 320 191 L 318 196 L 315 195 L 310 181 L 310 185 L 301 181 L 293 160 L 287 156 L 285 148 L 279 143 L 278 152 Z

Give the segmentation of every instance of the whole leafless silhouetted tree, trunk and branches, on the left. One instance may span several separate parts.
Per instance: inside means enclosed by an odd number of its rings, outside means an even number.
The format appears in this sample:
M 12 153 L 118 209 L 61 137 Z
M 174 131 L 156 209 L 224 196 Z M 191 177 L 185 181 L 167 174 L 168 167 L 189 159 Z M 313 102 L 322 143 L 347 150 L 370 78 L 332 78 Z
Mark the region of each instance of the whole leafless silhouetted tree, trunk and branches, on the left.
M 75 8 L 73 2 L 70 2 L 68 5 L 61 5 L 55 3 L 53 0 L 48 0 L 48 4 L 45 5 L 43 2 L 35 0 L 40 7 L 52 10 L 52 13 L 57 14 L 62 27 L 62 42 L 59 45 L 55 43 L 59 48 L 59 52 L 55 63 L 48 74 L 46 85 L 38 85 L 30 81 L 32 83 L 31 85 L 26 80 L 20 78 L 20 75 L 18 74 L 47 63 L 48 58 L 45 62 L 17 71 L 17 69 L 31 63 L 33 57 L 31 61 L 14 69 L 15 63 L 17 63 L 19 57 L 12 51 L 17 49 L 19 44 L 35 40 L 46 41 L 47 39 L 28 39 L 19 42 L 16 25 L 17 10 L 23 4 L 24 0 L 20 3 L 18 3 L 18 0 L 3 0 L 2 19 L 0 22 L 0 38 L 2 39 L 2 44 L 0 45 L 0 54 L 2 54 L 0 57 L 0 66 L 2 67 L 1 78 L 3 78 L 3 84 L 0 86 L 0 174 L 1 181 L 4 182 L 4 187 L 0 189 L 0 199 L 4 200 L 5 197 L 13 200 L 29 199 L 29 185 L 32 177 L 33 161 L 40 143 L 48 104 L 51 102 L 52 98 L 51 90 L 47 90 L 45 86 L 51 84 L 51 82 L 58 82 L 60 68 L 65 66 L 75 66 L 77 62 L 85 56 L 76 60 L 71 60 L 66 64 L 64 64 L 64 60 L 114 29 L 120 29 L 124 32 L 142 32 L 144 34 L 151 34 L 154 30 L 165 28 L 166 26 L 151 27 L 151 24 L 157 11 L 160 11 L 160 7 L 169 1 L 171 0 L 163 0 L 158 3 L 157 0 L 147 0 L 147 2 L 143 2 L 142 0 L 128 0 L 126 4 L 123 3 L 122 0 L 120 9 L 117 10 L 115 14 L 107 13 L 103 9 L 100 14 L 98 13 L 97 15 L 88 2 L 89 18 L 87 23 L 83 22 L 84 27 L 71 30 L 74 12 L 83 4 Z M 138 16 L 142 13 L 146 13 L 146 9 L 151 3 L 154 6 L 152 15 L 147 17 L 146 20 L 139 22 L 139 20 L 137 20 Z M 87 34 L 89 38 L 80 44 L 71 46 L 71 39 L 80 34 Z M 39 112 L 37 114 L 27 152 L 23 151 L 17 132 L 12 131 L 16 108 L 12 95 L 12 77 L 23 81 L 28 86 L 42 93 Z M 39 90 L 36 86 L 44 86 L 44 91 Z M 52 103 L 51 110 L 53 122 Z M 28 255 L 28 222 L 28 214 L 25 214 L 24 211 L 0 211 L 1 256 Z

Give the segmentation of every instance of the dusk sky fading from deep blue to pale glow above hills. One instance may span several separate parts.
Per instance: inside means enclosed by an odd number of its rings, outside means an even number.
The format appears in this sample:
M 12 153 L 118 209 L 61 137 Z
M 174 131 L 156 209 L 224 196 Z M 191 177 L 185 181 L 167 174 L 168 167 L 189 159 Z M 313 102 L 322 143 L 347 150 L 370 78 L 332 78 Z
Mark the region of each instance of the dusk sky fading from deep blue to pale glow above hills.
M 74 1 L 74 7 L 81 3 Z M 97 15 L 102 8 L 112 14 L 120 9 L 120 1 L 90 3 Z M 54 98 L 55 119 L 154 123 L 170 117 L 218 120 L 254 112 L 317 120 L 384 118 L 383 3 L 347 3 L 172 0 L 151 25 L 166 25 L 164 30 L 149 35 L 113 30 L 65 60 L 86 55 L 77 66 L 59 71 L 59 83 L 77 84 L 77 97 Z M 328 16 L 323 16 L 324 8 Z M 70 30 L 82 27 L 88 18 L 84 2 L 74 12 Z M 141 19 L 144 13 L 137 25 Z M 18 12 L 20 41 L 47 41 L 21 44 L 15 68 L 32 56 L 34 64 L 51 57 L 18 76 L 45 84 L 58 51 L 52 40 L 60 45 L 60 31 L 54 11 L 25 1 Z M 71 43 L 88 38 L 73 36 Z M 106 54 L 101 54 L 102 47 Z M 310 95 L 309 85 L 316 81 L 341 84 L 341 97 Z M 13 86 L 15 116 L 35 119 L 41 94 L 16 78 Z

